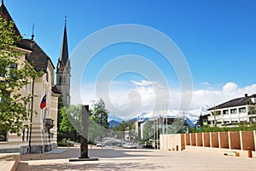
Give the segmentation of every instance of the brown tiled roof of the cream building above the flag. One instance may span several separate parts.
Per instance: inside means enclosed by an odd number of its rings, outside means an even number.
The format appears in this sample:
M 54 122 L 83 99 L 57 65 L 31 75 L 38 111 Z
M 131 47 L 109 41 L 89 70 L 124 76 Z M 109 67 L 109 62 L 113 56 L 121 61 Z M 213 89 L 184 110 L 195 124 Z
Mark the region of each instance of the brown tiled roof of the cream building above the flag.
M 32 53 L 27 55 L 27 60 L 35 67 L 36 71 L 46 71 L 48 62 L 51 62 L 49 56 L 44 53 L 44 50 L 39 47 L 38 43 L 31 39 L 23 39 L 20 41 L 20 45 L 32 48 Z M 52 64 L 55 68 L 55 66 Z

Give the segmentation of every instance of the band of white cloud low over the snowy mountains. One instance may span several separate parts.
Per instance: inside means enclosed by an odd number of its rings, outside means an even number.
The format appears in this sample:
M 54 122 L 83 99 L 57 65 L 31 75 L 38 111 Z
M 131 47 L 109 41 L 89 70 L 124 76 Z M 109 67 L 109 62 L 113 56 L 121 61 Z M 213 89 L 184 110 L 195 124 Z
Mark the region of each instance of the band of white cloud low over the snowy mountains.
M 182 98 L 180 89 L 165 88 L 160 83 L 145 80 L 111 83 L 112 87 L 108 87 L 109 83 L 97 84 L 101 87 L 96 88 L 94 83 L 81 86 L 80 96 L 83 104 L 90 104 L 91 100 L 102 97 L 108 111 L 118 117 L 128 118 L 143 112 L 152 113 L 154 110 L 166 109 L 167 105 L 169 109 L 178 109 Z M 256 84 L 238 88 L 236 83 L 225 83 L 223 88 L 219 89 L 198 89 L 192 93 L 191 108 L 211 107 L 244 94 L 255 93 Z M 79 99 L 77 95 L 79 94 L 72 94 L 73 104 Z

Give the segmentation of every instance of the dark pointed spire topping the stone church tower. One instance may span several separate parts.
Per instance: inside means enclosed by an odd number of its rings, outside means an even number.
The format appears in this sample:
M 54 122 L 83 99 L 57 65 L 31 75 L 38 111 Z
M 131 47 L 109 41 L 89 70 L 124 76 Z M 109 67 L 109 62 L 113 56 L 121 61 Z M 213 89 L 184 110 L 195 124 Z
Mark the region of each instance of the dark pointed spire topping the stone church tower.
M 63 66 L 66 66 L 68 60 L 68 46 L 67 46 L 67 16 L 65 16 L 64 35 L 61 48 L 60 61 Z

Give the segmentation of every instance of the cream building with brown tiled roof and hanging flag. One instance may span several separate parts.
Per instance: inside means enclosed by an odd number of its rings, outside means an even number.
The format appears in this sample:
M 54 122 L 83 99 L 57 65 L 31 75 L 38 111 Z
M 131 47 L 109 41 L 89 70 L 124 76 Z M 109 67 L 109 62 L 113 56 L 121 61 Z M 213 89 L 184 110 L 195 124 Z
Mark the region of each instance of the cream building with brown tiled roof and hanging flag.
M 2 4 L 0 6 L 0 15 L 5 20 L 12 20 L 8 10 Z M 15 26 L 16 34 L 20 31 Z M 20 152 L 20 153 L 38 153 L 50 151 L 57 147 L 57 113 L 58 113 L 58 89 L 55 87 L 55 67 L 49 56 L 44 53 L 38 43 L 34 41 L 34 35 L 31 39 L 22 39 L 16 43 L 18 50 L 22 52 L 20 64 L 28 60 L 36 71 L 42 71 L 40 77 L 31 80 L 31 83 L 21 88 L 20 94 L 27 96 L 32 94 L 32 102 L 26 105 L 28 110 L 32 110 L 32 117 L 24 124 L 30 125 L 30 128 L 23 129 L 21 136 L 10 134 L 3 131 L 1 134 L 0 152 Z M 22 67 L 22 66 L 17 66 Z M 4 79 L 4 77 L 3 77 Z M 46 105 L 40 107 L 44 99 Z

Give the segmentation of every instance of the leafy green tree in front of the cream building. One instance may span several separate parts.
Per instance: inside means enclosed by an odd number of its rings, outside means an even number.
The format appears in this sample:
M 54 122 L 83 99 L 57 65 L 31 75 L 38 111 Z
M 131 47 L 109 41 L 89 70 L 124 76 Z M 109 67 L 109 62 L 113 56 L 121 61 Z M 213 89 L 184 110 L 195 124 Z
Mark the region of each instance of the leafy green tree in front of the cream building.
M 18 90 L 32 83 L 38 73 L 26 60 L 20 62 L 26 54 L 15 46 L 22 37 L 15 34 L 14 28 L 13 21 L 0 16 L 0 130 L 20 135 L 20 131 L 28 127 L 24 121 L 32 112 L 26 109 L 32 95 L 23 96 Z

